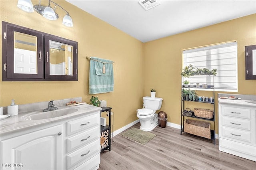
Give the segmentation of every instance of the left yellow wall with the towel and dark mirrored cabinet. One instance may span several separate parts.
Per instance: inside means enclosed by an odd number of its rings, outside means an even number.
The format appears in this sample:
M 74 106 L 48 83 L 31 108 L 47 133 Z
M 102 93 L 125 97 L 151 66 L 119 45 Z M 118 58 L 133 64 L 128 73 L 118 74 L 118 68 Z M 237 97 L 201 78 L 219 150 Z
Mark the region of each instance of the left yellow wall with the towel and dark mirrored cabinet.
M 58 7 L 56 12 L 60 18 L 50 21 L 37 12 L 20 10 L 17 2 L 0 0 L 1 30 L 2 21 L 5 21 L 78 42 L 78 81 L 3 82 L 1 67 L 0 106 L 10 105 L 11 99 L 15 99 L 18 105 L 72 97 L 82 97 L 83 101 L 89 103 L 92 96 L 88 94 L 90 61 L 86 56 L 94 56 L 115 61 L 114 92 L 98 94 L 99 99 L 106 100 L 107 105 L 113 108 L 115 129 L 137 119 L 136 109 L 142 107 L 144 87 L 142 42 L 64 0 L 58 1 L 58 4 L 68 10 L 73 28 L 62 25 L 64 11 Z M 42 0 L 45 6 L 47 2 Z M 32 3 L 38 4 L 38 0 Z M 0 47 L 2 49 L 2 41 Z M 2 65 L 2 52 L 0 63 Z

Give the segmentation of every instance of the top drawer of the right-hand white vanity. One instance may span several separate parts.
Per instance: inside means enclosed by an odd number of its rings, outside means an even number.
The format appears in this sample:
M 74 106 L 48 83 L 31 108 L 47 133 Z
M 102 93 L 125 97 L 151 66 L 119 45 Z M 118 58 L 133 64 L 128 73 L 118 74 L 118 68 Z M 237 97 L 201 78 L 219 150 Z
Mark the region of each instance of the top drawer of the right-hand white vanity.
M 239 117 L 244 119 L 250 119 L 250 109 L 242 109 L 237 107 L 222 107 L 222 115 L 231 116 L 231 117 Z

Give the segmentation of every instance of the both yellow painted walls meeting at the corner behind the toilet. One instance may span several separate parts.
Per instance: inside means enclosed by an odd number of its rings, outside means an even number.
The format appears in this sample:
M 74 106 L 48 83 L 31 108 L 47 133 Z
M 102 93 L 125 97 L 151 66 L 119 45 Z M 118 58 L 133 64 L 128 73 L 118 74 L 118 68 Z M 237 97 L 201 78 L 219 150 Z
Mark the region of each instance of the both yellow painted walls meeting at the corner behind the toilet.
M 180 124 L 181 50 L 232 40 L 238 41 L 238 94 L 256 95 L 256 80 L 245 80 L 244 73 L 244 46 L 256 44 L 256 14 L 142 43 L 66 1 L 58 4 L 68 9 L 73 28 L 61 24 L 64 13 L 58 7 L 60 18 L 49 21 L 36 12 L 23 12 L 16 7 L 17 0 L 0 0 L 1 21 L 77 41 L 78 81 L 2 82 L 0 72 L 1 106 L 10 105 L 11 99 L 26 104 L 82 97 L 89 103 L 92 95 L 88 94 L 86 56 L 95 56 L 115 61 L 114 92 L 98 94 L 113 108 L 115 130 L 137 119 L 136 109 L 142 107 L 142 97 L 150 95 L 152 88 L 157 90 L 156 97 L 164 99 L 161 111 L 168 114 L 168 122 Z

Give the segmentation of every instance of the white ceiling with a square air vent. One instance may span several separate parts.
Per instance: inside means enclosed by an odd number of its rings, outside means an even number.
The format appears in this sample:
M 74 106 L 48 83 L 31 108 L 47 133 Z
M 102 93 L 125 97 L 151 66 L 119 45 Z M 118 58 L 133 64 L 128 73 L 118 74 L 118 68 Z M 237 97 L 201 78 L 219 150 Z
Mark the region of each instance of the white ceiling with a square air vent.
M 256 13 L 256 0 L 160 0 L 147 11 L 139 0 L 66 1 L 141 42 Z

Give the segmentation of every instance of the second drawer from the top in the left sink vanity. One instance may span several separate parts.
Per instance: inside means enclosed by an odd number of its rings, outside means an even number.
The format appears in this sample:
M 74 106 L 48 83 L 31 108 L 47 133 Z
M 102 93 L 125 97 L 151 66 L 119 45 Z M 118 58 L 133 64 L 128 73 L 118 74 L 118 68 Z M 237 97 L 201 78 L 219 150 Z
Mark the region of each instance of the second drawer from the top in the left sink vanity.
M 67 139 L 68 152 L 80 146 L 89 144 L 90 142 L 99 140 L 100 139 L 99 134 L 100 134 L 100 127 L 95 127 L 90 130 L 86 130 L 85 132 L 82 132 L 76 136 L 72 136 L 68 138 Z

